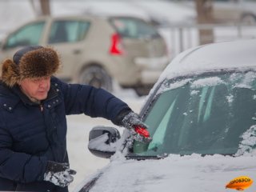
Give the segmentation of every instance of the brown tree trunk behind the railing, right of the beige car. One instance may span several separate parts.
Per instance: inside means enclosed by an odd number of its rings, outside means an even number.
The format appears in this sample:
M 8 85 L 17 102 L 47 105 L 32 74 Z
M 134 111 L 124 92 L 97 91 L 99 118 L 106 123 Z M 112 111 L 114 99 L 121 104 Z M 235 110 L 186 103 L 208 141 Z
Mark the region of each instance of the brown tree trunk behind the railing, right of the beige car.
M 213 1 L 212 0 L 195 0 L 196 10 L 198 13 L 198 24 L 213 23 Z M 200 44 L 214 42 L 214 32 L 212 29 L 199 29 Z

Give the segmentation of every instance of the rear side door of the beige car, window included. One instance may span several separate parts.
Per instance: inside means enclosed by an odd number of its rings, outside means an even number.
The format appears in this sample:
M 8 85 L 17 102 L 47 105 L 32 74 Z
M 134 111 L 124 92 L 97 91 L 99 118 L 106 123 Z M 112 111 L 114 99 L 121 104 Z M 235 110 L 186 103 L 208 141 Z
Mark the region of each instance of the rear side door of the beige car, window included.
M 61 54 L 62 70 L 57 74 L 64 81 L 70 81 L 81 67 L 82 40 L 90 28 L 90 22 L 80 19 L 62 18 L 50 25 L 47 44 L 54 46 Z

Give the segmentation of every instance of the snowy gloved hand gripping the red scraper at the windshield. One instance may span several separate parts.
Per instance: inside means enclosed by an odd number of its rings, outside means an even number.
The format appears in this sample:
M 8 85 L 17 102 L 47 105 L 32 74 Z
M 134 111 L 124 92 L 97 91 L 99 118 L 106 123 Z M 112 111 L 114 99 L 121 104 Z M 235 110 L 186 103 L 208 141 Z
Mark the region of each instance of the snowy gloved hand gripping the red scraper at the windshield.
M 122 119 L 122 126 L 130 130 L 130 134 L 133 135 L 134 139 L 138 142 L 149 143 L 152 141 L 150 133 L 147 131 L 147 126 L 142 122 L 138 114 L 130 111 Z

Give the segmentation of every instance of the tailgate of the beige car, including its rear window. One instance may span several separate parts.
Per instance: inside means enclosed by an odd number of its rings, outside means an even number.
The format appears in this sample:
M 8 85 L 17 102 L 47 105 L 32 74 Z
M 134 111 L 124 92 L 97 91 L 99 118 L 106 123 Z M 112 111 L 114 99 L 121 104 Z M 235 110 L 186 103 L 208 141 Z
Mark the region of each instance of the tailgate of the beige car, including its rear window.
M 150 59 L 167 56 L 164 39 L 150 23 L 132 17 L 112 17 L 110 23 L 121 35 L 123 46 L 131 58 L 146 58 L 147 65 L 150 65 Z

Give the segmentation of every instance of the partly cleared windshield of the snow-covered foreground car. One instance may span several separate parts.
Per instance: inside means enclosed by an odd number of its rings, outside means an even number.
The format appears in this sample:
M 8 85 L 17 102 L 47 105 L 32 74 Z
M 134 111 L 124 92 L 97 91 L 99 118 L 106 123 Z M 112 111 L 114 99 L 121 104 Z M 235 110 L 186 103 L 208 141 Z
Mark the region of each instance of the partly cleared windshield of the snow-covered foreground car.
M 255 72 L 165 81 L 146 110 L 153 141 L 134 142 L 133 152 L 142 156 L 244 153 L 255 147 L 255 120 Z

